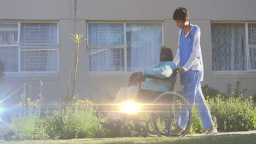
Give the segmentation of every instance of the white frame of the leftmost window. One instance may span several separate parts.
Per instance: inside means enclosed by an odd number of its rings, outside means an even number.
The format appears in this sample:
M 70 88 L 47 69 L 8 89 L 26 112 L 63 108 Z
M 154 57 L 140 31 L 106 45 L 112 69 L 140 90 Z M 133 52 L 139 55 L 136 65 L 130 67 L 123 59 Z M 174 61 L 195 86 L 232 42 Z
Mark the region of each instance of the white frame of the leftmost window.
M 18 22 L 18 71 L 8 71 L 8 72 L 4 72 L 5 74 L 57 74 L 60 71 L 60 58 L 59 58 L 59 21 L 27 21 L 27 20 L 19 20 L 19 21 L 13 21 L 13 22 Z M 49 48 L 53 48 L 50 50 L 57 50 L 57 71 L 21 71 L 20 69 L 20 56 L 21 56 L 21 48 L 25 48 L 25 47 L 29 47 L 30 45 L 40 45 L 40 44 L 21 44 L 20 43 L 20 30 L 21 30 L 21 23 L 57 23 L 57 44 L 49 44 L 51 46 L 49 46 Z M 47 45 L 47 44 L 44 44 Z M 46 49 L 46 47 L 35 47 L 36 49 Z

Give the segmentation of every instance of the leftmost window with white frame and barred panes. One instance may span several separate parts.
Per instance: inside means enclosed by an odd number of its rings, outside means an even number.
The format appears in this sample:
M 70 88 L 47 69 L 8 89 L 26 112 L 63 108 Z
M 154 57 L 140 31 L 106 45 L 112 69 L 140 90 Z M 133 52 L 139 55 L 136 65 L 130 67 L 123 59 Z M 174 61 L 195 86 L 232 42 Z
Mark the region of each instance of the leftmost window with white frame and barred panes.
M 57 22 L 0 22 L 0 61 L 6 72 L 57 72 Z

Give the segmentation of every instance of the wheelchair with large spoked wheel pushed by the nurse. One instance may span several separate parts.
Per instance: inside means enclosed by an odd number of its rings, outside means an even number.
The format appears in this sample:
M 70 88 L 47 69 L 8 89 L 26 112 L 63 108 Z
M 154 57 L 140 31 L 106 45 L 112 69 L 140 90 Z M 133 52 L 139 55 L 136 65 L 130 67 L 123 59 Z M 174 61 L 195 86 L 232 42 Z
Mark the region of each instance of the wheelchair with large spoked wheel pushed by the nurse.
M 143 120 L 137 116 L 130 118 L 127 117 L 128 114 L 126 118 L 129 118 L 132 123 L 129 124 L 129 127 L 138 131 L 140 136 L 147 137 L 149 134 L 156 134 L 158 136 L 173 137 L 185 136 L 188 133 L 192 122 L 192 112 L 188 101 L 181 94 L 174 92 L 177 74 L 178 69 L 174 70 L 170 77 L 164 79 L 153 75 L 144 75 L 139 81 L 139 93 L 136 99 L 136 103 L 140 105 L 138 115 L 148 113 L 148 119 Z M 171 83 L 170 92 L 156 92 L 144 89 L 142 85 L 146 79 L 169 81 Z M 170 131 L 177 127 L 176 122 L 181 111 L 187 112 L 187 124 L 182 133 L 172 134 Z

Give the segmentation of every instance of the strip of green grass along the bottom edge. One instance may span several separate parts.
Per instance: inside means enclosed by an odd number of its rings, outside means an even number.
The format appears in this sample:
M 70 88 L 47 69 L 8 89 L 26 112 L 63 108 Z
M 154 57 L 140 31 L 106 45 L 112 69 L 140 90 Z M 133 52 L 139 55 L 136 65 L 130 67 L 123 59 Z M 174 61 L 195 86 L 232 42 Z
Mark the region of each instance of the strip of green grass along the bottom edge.
M 112 138 L 112 139 L 73 139 L 73 140 L 44 140 L 44 141 L 0 141 L 0 143 L 17 143 L 17 144 L 25 144 L 25 143 L 183 143 L 183 144 L 191 144 L 191 143 L 256 143 L 256 134 L 248 134 L 248 135 L 216 135 L 216 136 L 208 136 L 208 137 L 199 137 L 199 136 L 187 136 L 187 137 L 125 137 L 125 138 Z

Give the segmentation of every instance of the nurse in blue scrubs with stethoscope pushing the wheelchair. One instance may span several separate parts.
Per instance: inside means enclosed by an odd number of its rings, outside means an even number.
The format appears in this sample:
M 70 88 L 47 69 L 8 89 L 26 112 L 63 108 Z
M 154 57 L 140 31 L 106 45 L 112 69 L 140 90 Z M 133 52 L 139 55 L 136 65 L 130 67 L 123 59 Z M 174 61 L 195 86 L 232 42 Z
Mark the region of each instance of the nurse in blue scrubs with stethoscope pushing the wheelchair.
M 173 14 L 173 20 L 179 27 L 179 48 L 173 63 L 178 65 L 183 87 L 183 96 L 188 100 L 192 109 L 194 102 L 199 112 L 203 129 L 208 132 L 202 136 L 214 135 L 218 131 L 214 128 L 212 116 L 202 94 L 201 81 L 203 80 L 203 63 L 200 46 L 200 28 L 188 21 L 188 10 L 177 8 Z M 183 109 L 183 110 L 182 110 Z M 182 107 L 177 119 L 178 127 L 171 131 L 179 134 L 185 129 L 188 120 L 188 111 Z

